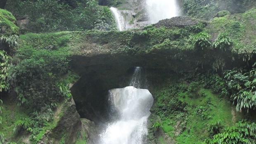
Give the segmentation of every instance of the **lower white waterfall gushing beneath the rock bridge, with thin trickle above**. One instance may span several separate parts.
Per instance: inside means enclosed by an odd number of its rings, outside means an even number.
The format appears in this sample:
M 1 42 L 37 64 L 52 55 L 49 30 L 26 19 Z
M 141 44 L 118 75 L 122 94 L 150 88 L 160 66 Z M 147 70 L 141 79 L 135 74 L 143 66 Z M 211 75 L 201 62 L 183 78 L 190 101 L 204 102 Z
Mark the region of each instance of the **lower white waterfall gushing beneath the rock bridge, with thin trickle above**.
M 140 67 L 136 67 L 131 86 L 109 91 L 118 119 L 100 134 L 101 144 L 143 144 L 153 97 L 148 90 L 135 88 L 140 87 L 140 78 Z

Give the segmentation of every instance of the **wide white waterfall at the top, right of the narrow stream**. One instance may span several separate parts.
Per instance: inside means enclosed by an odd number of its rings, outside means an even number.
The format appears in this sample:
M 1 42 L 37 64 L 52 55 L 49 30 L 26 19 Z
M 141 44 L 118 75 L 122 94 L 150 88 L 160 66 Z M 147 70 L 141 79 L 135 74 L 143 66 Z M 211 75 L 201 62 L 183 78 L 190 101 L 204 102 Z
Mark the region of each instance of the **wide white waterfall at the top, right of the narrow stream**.
M 176 0 L 147 0 L 146 5 L 150 24 L 179 16 L 180 8 Z

